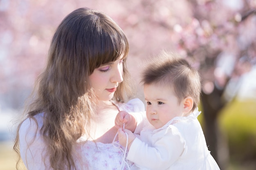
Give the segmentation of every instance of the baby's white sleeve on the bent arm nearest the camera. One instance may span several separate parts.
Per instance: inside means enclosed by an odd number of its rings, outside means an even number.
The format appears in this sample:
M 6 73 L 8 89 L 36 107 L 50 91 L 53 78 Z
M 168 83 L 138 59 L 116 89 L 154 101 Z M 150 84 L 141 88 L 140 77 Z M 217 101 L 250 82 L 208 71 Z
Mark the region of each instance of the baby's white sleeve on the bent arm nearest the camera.
M 150 147 L 143 139 L 135 138 L 130 146 L 127 159 L 139 168 L 164 170 L 170 167 L 182 155 L 185 141 L 175 127 L 168 128 L 164 135 Z M 155 137 L 154 134 L 152 135 Z

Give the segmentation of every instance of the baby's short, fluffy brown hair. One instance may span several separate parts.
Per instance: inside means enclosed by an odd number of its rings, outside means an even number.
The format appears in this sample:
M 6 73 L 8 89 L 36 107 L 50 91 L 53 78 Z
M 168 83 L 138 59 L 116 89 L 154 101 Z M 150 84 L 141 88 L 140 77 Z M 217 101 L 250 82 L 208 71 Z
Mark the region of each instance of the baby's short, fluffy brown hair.
M 170 86 L 179 102 L 185 97 L 192 97 L 194 100 L 192 111 L 200 102 L 201 78 L 198 70 L 174 52 L 162 51 L 148 62 L 142 71 L 141 84 Z

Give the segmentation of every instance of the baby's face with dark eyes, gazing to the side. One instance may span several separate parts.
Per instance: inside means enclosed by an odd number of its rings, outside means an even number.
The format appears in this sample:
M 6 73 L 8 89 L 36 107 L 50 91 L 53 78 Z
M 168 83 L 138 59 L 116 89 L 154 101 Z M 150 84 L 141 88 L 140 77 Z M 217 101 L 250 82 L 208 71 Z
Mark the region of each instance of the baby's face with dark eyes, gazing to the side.
M 174 117 L 183 116 L 184 105 L 178 102 L 171 87 L 147 84 L 144 85 L 144 96 L 148 121 L 156 129 Z

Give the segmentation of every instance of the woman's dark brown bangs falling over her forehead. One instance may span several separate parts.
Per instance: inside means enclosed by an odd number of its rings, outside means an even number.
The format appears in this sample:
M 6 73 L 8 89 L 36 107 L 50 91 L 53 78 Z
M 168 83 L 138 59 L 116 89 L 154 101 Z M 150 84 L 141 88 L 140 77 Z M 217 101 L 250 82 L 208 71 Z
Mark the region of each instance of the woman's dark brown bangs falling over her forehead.
M 118 60 L 125 61 L 129 51 L 129 44 L 123 31 L 111 22 L 97 22 L 91 28 L 94 32 L 90 35 L 90 73 L 95 68 Z

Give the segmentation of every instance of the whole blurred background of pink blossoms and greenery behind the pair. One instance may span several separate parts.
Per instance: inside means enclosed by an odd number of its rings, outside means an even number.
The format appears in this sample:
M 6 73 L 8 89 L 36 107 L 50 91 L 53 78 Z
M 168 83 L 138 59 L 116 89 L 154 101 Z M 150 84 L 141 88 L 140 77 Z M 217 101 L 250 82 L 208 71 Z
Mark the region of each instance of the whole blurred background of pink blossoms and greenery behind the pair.
M 105 12 L 124 30 L 143 101 L 143 61 L 163 49 L 186 57 L 202 76 L 199 119 L 220 169 L 256 169 L 256 0 L 0 0 L 0 170 L 15 169 L 15 119 L 56 27 L 79 7 Z

